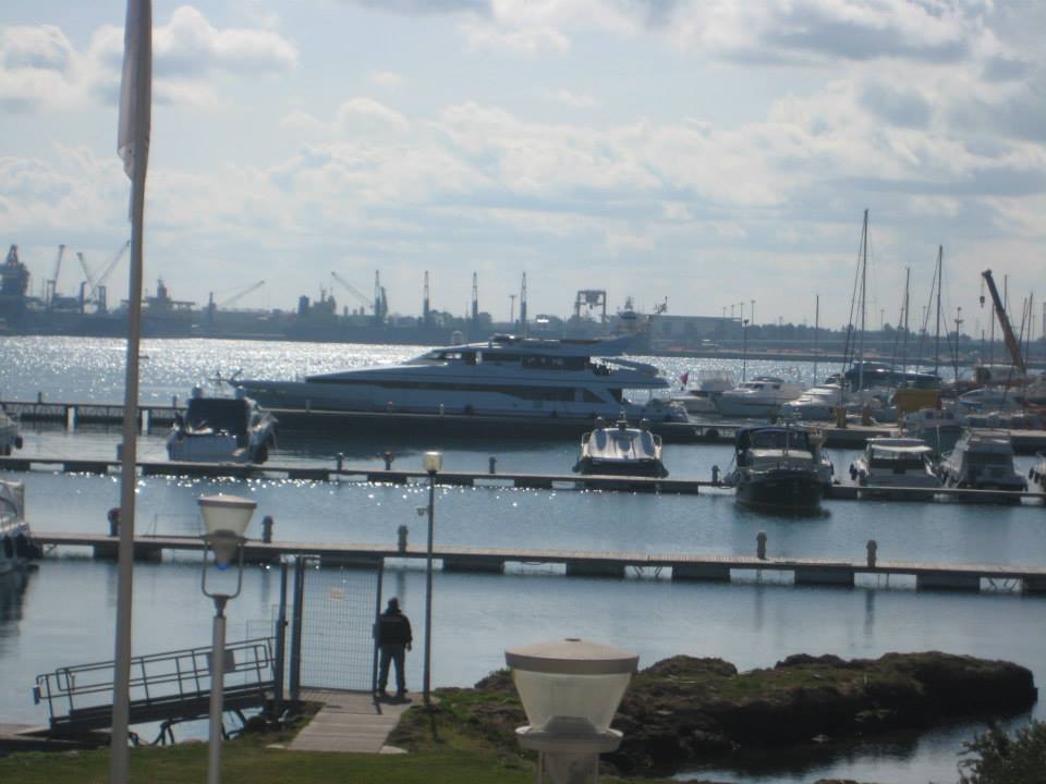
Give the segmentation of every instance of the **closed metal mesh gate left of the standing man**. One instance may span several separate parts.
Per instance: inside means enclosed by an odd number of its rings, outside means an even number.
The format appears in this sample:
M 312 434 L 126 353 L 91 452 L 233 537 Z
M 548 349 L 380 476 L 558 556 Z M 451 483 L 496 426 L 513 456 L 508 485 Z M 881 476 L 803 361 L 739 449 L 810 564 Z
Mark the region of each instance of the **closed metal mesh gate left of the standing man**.
M 381 560 L 320 567 L 299 558 L 290 639 L 290 691 L 300 688 L 373 691 L 381 601 Z

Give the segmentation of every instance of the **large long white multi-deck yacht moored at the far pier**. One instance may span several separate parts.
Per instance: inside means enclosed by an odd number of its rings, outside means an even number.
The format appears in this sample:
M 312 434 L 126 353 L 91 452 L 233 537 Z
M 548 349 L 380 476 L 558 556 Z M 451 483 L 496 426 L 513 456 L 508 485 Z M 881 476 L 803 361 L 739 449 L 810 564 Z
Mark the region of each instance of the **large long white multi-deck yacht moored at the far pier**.
M 633 421 L 686 421 L 682 406 L 654 397 L 669 388 L 657 368 L 619 353 L 613 341 L 495 335 L 402 365 L 234 383 L 270 408 L 572 419 L 617 419 L 623 411 Z M 649 400 L 632 401 L 625 391 Z

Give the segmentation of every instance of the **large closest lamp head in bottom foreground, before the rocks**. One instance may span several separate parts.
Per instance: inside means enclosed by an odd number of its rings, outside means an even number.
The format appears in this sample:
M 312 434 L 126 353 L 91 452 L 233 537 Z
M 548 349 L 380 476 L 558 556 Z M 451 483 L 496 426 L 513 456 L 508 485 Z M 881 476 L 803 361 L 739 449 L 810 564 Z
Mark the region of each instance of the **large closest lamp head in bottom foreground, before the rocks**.
M 538 782 L 548 770 L 555 784 L 598 781 L 599 755 L 621 744 L 610 721 L 640 657 L 569 638 L 511 648 L 504 661 L 520 693 L 528 725 L 515 735 L 538 752 Z

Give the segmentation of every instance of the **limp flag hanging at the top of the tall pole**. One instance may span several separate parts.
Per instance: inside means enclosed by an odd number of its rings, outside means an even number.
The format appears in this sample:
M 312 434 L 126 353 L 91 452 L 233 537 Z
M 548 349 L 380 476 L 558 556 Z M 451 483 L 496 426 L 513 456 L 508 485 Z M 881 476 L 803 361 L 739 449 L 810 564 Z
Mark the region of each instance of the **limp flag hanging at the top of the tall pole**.
M 120 84 L 120 130 L 117 154 L 123 171 L 144 177 L 149 158 L 153 105 L 153 0 L 127 0 L 123 28 L 123 79 Z

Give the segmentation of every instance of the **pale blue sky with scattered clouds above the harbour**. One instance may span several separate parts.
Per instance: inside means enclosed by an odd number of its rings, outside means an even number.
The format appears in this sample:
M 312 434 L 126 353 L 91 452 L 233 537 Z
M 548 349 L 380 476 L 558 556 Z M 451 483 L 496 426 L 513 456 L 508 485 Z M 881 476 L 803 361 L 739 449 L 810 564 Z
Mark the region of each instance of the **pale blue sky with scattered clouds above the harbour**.
M 130 237 L 126 7 L 0 7 L 0 241 L 61 293 Z M 839 327 L 869 212 L 867 323 L 978 335 L 992 268 L 1046 297 L 1046 3 L 157 0 L 145 280 L 179 299 L 611 311 Z M 258 281 L 265 284 L 240 296 Z M 126 261 L 109 281 L 126 292 Z M 1038 286 L 1036 291 L 1036 285 Z M 518 306 L 516 306 L 518 307 Z M 962 309 L 960 314 L 958 308 Z M 1035 334 L 1041 330 L 1036 317 Z M 931 326 L 933 329 L 933 326 Z

